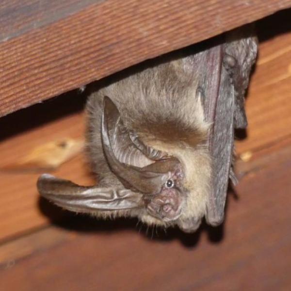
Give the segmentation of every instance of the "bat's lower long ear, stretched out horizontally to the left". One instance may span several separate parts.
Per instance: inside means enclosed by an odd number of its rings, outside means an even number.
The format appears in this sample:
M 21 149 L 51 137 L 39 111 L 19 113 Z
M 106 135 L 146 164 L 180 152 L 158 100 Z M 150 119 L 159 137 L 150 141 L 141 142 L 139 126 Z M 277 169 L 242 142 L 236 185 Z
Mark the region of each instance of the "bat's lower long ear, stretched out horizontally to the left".
M 142 195 L 127 189 L 83 187 L 69 180 L 43 174 L 37 189 L 46 199 L 75 212 L 129 210 L 144 207 Z

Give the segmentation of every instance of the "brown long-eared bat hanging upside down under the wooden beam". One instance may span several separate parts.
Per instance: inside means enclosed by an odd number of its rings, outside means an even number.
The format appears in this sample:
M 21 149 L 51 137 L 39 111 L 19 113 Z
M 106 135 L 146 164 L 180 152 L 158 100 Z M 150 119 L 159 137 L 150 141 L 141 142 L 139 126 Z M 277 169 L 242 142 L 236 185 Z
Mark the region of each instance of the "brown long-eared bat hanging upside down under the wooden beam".
M 223 222 L 234 129 L 257 55 L 248 28 L 145 62 L 89 96 L 87 151 L 98 184 L 43 174 L 39 193 L 100 218 L 194 232 Z

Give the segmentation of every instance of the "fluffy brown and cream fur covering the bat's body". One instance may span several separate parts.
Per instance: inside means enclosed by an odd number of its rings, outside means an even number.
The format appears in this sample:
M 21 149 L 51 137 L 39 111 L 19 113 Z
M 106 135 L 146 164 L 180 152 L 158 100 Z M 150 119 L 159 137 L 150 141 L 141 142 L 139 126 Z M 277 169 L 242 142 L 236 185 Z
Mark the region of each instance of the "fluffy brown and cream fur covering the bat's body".
M 179 221 L 199 220 L 205 215 L 211 176 L 205 146 L 209 124 L 204 121 L 201 100 L 196 97 L 195 76 L 187 75 L 185 69 L 185 64 L 192 62 L 191 58 L 162 63 L 113 82 L 94 92 L 87 103 L 87 146 L 99 185 L 123 187 L 111 172 L 102 151 L 100 122 L 103 97 L 108 96 L 128 129 L 135 131 L 147 146 L 162 150 L 182 163 L 187 197 Z M 149 225 L 173 224 L 151 217 L 145 210 L 114 213 L 138 216 Z M 112 212 L 101 211 L 94 215 L 112 216 Z

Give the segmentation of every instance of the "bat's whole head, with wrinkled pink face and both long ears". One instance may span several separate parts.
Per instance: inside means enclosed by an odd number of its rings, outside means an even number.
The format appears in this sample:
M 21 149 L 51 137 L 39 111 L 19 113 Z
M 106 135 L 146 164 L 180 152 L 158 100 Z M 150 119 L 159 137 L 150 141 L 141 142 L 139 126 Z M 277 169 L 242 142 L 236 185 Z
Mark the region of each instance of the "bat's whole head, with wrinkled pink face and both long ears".
M 199 226 L 197 220 L 188 219 L 195 213 L 190 213 L 191 207 L 187 206 L 189 197 L 191 200 L 189 187 L 185 187 L 187 159 L 181 162 L 171 153 L 146 146 L 134 131 L 125 127 L 109 97 L 104 97 L 101 137 L 107 163 L 124 187 L 82 187 L 44 174 L 37 183 L 40 194 L 76 212 L 97 216 L 116 211 L 119 216 L 134 212 L 150 225 L 178 225 L 188 231 Z

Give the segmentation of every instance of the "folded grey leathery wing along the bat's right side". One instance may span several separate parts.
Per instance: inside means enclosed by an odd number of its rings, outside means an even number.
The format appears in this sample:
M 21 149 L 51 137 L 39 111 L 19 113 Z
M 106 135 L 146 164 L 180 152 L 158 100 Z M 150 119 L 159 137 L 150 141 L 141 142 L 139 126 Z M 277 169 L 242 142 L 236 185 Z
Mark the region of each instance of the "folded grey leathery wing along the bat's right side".
M 209 147 L 212 179 L 206 221 L 223 222 L 226 193 L 232 172 L 234 129 L 246 128 L 244 94 L 257 55 L 257 42 L 250 32 L 232 32 L 226 43 L 205 51 L 204 112 L 211 123 Z

